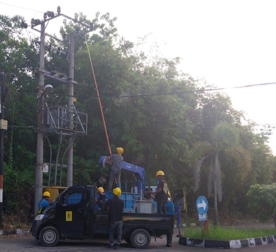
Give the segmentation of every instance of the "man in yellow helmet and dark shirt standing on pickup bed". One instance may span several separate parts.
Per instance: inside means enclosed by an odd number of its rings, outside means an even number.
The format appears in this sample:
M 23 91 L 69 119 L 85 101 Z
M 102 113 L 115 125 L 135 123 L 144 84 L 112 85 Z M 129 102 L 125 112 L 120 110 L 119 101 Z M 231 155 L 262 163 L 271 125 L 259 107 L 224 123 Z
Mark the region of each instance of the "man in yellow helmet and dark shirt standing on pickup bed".
M 156 191 L 148 191 L 151 195 L 155 194 L 155 201 L 157 202 L 158 214 L 166 214 L 166 201 L 168 198 L 168 186 L 164 180 L 165 174 L 163 171 L 156 172 L 155 177 L 158 179 L 158 185 Z

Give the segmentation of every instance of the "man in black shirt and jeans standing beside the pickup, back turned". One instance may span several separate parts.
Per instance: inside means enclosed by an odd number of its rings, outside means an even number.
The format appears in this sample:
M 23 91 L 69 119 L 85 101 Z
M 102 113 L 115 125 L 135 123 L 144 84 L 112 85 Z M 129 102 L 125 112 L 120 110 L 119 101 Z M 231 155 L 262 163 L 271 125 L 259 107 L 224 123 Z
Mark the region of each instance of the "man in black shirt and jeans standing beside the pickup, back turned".
M 121 189 L 116 187 L 113 190 L 114 197 L 107 201 L 107 209 L 109 212 L 109 248 L 118 249 L 121 244 L 123 231 L 123 210 L 124 202 L 118 196 L 121 195 Z M 114 231 L 117 229 L 117 241 L 114 244 Z

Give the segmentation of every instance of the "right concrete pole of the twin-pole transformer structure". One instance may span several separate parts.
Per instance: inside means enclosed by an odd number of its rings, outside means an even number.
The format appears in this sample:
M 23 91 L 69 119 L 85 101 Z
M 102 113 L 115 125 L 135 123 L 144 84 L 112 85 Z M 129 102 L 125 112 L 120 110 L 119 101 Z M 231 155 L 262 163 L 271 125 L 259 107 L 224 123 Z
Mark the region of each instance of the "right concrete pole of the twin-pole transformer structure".
M 69 77 L 74 80 L 74 47 L 75 47 L 75 36 L 70 34 L 70 51 L 69 51 Z M 70 129 L 73 129 L 73 97 L 74 96 L 74 84 L 72 82 L 68 83 L 68 107 L 70 109 Z M 67 154 L 67 178 L 66 186 L 70 187 L 73 185 L 73 137 L 70 136 L 68 139 L 68 145 L 71 147 L 68 150 Z M 69 146 L 68 146 L 69 147 Z

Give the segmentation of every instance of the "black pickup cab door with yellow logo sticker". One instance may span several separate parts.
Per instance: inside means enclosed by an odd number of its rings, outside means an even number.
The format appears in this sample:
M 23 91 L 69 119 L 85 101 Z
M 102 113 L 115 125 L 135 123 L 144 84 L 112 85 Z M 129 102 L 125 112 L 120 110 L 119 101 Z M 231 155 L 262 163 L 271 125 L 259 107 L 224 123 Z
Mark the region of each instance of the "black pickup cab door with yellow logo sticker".
M 62 237 L 84 237 L 85 188 L 72 187 L 60 197 L 55 209 L 55 223 Z

